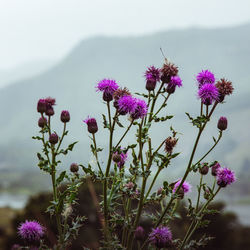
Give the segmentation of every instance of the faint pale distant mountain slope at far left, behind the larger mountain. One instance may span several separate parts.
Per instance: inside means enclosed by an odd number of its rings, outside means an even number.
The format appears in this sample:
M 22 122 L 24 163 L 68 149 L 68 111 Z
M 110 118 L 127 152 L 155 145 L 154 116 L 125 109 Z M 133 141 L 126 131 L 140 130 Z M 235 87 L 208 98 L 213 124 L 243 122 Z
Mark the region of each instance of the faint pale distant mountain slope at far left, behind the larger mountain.
M 35 61 L 18 65 L 11 69 L 0 69 L 0 88 L 10 83 L 37 76 L 48 70 L 54 62 Z

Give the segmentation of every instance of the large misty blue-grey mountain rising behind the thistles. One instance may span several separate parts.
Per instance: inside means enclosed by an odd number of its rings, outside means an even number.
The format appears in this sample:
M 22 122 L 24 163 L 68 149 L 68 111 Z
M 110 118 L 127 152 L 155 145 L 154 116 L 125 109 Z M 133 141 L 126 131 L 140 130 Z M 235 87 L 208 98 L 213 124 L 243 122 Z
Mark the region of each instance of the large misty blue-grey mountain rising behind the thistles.
M 100 36 L 83 40 L 64 60 L 43 74 L 0 90 L 0 168 L 35 169 L 35 152 L 40 146 L 31 139 L 38 133 L 36 104 L 39 98 L 47 96 L 57 100 L 52 122 L 58 133 L 62 130 L 60 111 L 68 109 L 71 113 L 68 142 L 71 139 L 80 141 L 64 167 L 70 161 L 89 161 L 89 138 L 82 120 L 92 115 L 101 127 L 101 114 L 107 112 L 101 94 L 95 91 L 97 81 L 110 77 L 132 92 L 144 90 L 143 72 L 149 65 L 160 67 L 163 64 L 162 48 L 166 57 L 179 66 L 183 79 L 183 88 L 176 90 L 167 107 L 168 114 L 176 115 L 168 125 L 183 133 L 177 148 L 182 151 L 182 156 L 174 163 L 180 167 L 173 167 L 173 171 L 178 172 L 184 167 L 182 161 L 187 160 L 197 133 L 185 112 L 193 116 L 199 112 L 195 75 L 202 69 L 210 69 L 217 79 L 230 79 L 235 92 L 226 99 L 226 104 L 219 105 L 206 129 L 207 135 L 202 138 L 198 154 L 205 152 L 213 143 L 212 136 L 217 135 L 217 119 L 221 115 L 227 116 L 229 129 L 210 159 L 218 157 L 238 171 L 250 159 L 249 44 L 250 24 L 223 29 L 173 30 L 141 37 Z M 122 122 L 125 124 L 126 118 Z M 155 141 L 162 140 L 163 134 L 165 137 L 170 135 L 168 125 L 157 125 L 153 131 Z M 101 146 L 106 143 L 106 135 L 106 131 L 97 135 Z M 127 141 L 133 142 L 134 137 L 128 137 Z

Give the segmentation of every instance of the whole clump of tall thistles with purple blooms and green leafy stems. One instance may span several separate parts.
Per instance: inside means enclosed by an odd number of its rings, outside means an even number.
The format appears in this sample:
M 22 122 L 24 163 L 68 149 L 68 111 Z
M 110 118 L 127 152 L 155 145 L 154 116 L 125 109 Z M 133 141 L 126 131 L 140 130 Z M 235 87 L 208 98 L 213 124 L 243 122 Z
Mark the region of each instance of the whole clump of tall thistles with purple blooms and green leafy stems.
M 61 148 L 62 141 L 68 134 L 66 124 L 70 121 L 70 114 L 68 111 L 62 111 L 61 121 L 64 128 L 62 135 L 58 136 L 52 132 L 51 124 L 55 99 L 46 98 L 38 101 L 38 125 L 41 130 L 40 136 L 34 139 L 41 141 L 43 145 L 43 152 L 37 154 L 38 166 L 48 173 L 52 180 L 54 199 L 48 212 L 56 217 L 57 222 L 58 243 L 54 246 L 55 249 L 66 249 L 71 240 L 77 237 L 78 229 L 85 218 L 74 215 L 72 207 L 77 202 L 79 186 L 84 182 L 93 181 L 103 185 L 101 200 L 96 204 L 103 232 L 101 249 L 196 249 L 209 240 L 206 236 L 199 241 L 191 238 L 196 229 L 207 223 L 203 221 L 204 215 L 214 212 L 208 205 L 221 189 L 236 179 L 233 171 L 222 167 L 217 161 L 204 162 L 221 140 L 223 131 L 227 129 L 225 117 L 218 120 L 218 137 L 213 137 L 214 143 L 211 148 L 199 160 L 194 161 L 194 157 L 201 135 L 212 119 L 216 107 L 223 104 L 226 96 L 232 94 L 232 83 L 224 78 L 216 82 L 214 74 L 208 70 L 203 70 L 197 75 L 200 111 L 195 118 L 186 113 L 197 129 L 197 136 L 183 176 L 169 183 L 166 169 L 180 154 L 175 152 L 179 133 L 171 126 L 171 134 L 164 135 L 162 141 L 155 146 L 156 142 L 151 138 L 150 132 L 155 123 L 163 124 L 173 117 L 166 114 L 167 102 L 175 94 L 177 87 L 182 86 L 182 80 L 178 76 L 178 67 L 167 59 L 161 69 L 149 67 L 145 72 L 145 78 L 147 93 L 136 93 L 139 98 L 133 96 L 126 87 L 119 86 L 115 80 L 103 79 L 97 84 L 97 91 L 102 93 L 107 107 L 107 115 L 102 116 L 104 129 L 109 132 L 108 154 L 106 158 L 100 155 L 103 148 L 98 147 L 96 140 L 99 126 L 97 120 L 89 116 L 84 123 L 91 134 L 91 152 L 95 157 L 96 166 L 92 163 L 88 166 L 72 163 L 70 173 L 58 173 L 61 161 L 57 158 L 59 155 L 67 155 L 76 144 L 74 142 L 66 149 Z M 126 128 L 124 123 L 128 123 Z M 117 133 L 118 127 L 123 129 L 120 136 Z M 125 143 L 125 137 L 134 128 L 135 143 Z M 132 158 L 131 161 L 128 158 Z M 79 168 L 84 174 L 79 173 Z M 209 170 L 214 179 L 212 183 L 205 180 Z M 164 173 L 166 178 L 161 187 L 155 190 L 160 173 Z M 184 238 L 177 239 L 172 234 L 169 223 L 178 216 L 176 210 L 179 202 L 191 191 L 191 185 L 187 181 L 190 173 L 200 177 L 197 198 L 188 199 L 190 225 Z M 63 181 L 66 181 L 66 187 L 61 189 Z M 150 220 L 150 232 L 143 228 L 142 221 L 145 218 Z M 27 237 L 35 239 L 36 246 L 45 247 L 42 237 L 46 229 L 36 222 L 28 226 L 29 223 L 31 222 L 25 222 L 20 226 L 21 237 L 24 240 Z M 36 232 L 28 232 L 29 230 Z M 26 241 L 26 244 L 34 245 L 30 241 Z

